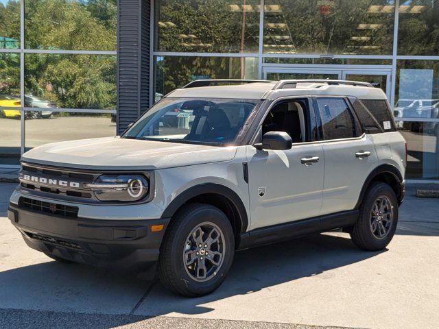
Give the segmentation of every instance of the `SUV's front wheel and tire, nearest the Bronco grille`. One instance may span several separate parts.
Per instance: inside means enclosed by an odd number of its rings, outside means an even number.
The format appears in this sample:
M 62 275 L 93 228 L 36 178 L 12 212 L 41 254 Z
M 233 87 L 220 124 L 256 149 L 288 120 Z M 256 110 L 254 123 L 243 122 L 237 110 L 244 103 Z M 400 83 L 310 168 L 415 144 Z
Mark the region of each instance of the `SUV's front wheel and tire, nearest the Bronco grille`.
M 180 295 L 206 295 L 222 284 L 234 254 L 233 228 L 224 212 L 209 204 L 188 204 L 176 213 L 167 229 L 158 260 L 158 278 Z

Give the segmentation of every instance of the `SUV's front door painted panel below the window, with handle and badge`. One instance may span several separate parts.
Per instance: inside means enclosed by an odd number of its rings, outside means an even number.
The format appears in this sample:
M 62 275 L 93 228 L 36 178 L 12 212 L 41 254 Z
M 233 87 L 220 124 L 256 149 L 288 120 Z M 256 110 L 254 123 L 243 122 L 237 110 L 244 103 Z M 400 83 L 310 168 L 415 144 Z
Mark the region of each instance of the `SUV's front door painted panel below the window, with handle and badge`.
M 257 150 L 248 145 L 246 152 L 251 230 L 319 214 L 324 173 L 322 145 L 298 143 L 287 151 Z

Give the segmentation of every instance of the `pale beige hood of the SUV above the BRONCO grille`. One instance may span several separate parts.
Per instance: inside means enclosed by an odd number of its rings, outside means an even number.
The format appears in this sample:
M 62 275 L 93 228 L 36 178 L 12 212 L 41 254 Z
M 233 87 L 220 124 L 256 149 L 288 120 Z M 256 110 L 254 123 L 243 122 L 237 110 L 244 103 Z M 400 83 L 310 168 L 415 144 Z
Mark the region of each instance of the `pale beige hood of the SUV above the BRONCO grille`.
M 23 154 L 23 162 L 99 170 L 147 170 L 230 161 L 237 147 L 216 147 L 118 137 L 46 144 Z

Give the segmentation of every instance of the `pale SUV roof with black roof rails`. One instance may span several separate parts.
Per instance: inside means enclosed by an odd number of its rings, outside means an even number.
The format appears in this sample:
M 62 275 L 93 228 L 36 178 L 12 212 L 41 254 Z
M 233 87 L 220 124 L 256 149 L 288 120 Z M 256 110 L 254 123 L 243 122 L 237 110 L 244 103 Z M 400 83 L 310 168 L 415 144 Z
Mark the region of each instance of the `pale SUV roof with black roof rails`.
M 340 84 L 333 84 L 340 83 Z M 356 85 L 361 84 L 361 85 Z M 277 86 L 283 86 L 276 89 Z M 291 87 L 291 88 L 290 88 Z M 359 99 L 387 99 L 380 88 L 366 86 L 364 82 L 330 80 L 282 80 L 281 82 L 254 82 L 228 86 L 180 88 L 166 97 L 278 99 L 288 96 L 353 96 Z

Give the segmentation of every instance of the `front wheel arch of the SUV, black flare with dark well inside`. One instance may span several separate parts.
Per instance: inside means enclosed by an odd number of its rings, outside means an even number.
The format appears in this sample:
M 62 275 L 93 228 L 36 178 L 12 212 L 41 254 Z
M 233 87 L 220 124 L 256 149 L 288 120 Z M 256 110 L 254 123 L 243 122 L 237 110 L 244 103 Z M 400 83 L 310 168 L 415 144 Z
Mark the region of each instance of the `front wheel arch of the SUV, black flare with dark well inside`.
M 172 218 L 182 206 L 191 202 L 211 204 L 222 210 L 232 224 L 235 242 L 239 245 L 241 233 L 246 232 L 248 228 L 248 216 L 244 202 L 235 191 L 214 183 L 192 186 L 174 198 L 161 217 Z

